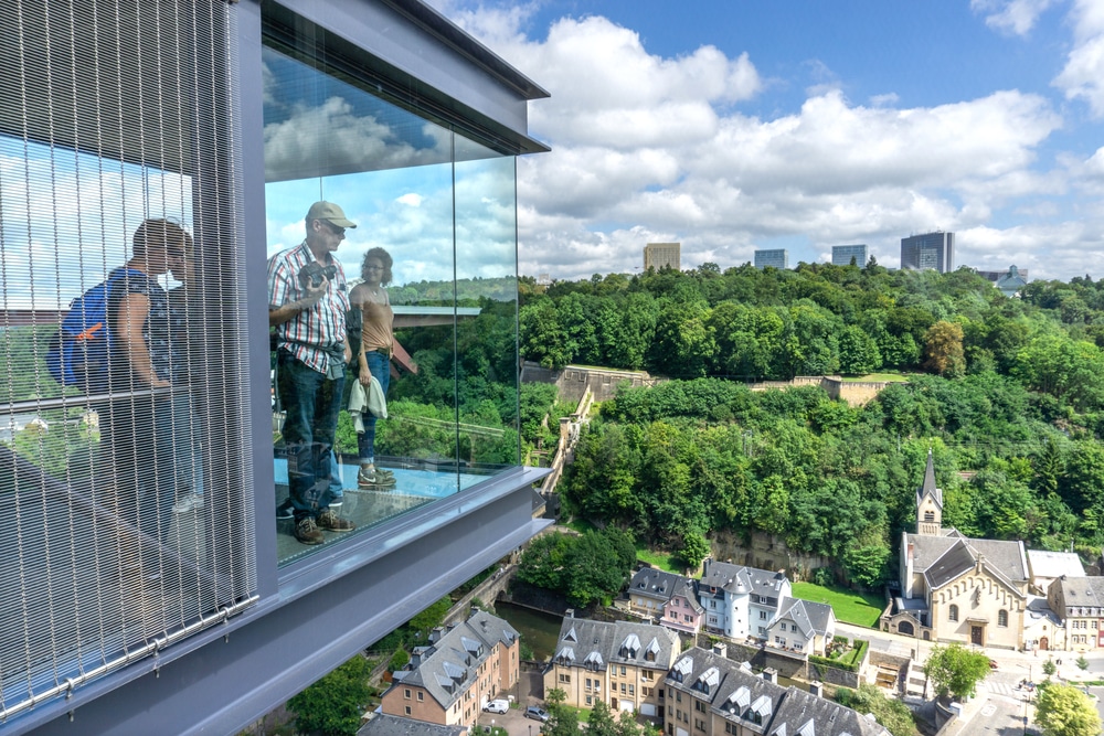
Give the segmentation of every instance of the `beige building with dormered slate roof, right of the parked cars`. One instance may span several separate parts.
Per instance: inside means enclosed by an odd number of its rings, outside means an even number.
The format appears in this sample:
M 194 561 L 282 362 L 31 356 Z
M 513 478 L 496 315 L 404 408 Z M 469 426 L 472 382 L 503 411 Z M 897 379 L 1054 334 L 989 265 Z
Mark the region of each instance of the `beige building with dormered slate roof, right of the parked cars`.
M 630 621 L 591 621 L 572 611 L 560 626 L 555 654 L 544 670 L 544 692 L 559 687 L 574 707 L 603 701 L 614 712 L 654 717 L 662 705 L 664 675 L 680 649 L 665 627 Z

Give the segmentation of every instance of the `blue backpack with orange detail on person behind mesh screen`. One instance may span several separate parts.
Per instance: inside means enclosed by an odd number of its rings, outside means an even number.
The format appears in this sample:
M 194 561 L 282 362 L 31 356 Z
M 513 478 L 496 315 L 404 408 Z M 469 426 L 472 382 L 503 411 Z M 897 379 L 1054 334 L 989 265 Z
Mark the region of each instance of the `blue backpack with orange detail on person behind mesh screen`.
M 92 287 L 70 305 L 46 351 L 46 367 L 54 381 L 86 394 L 107 391 L 112 352 L 112 334 L 107 327 L 110 289 L 120 278 L 131 275 L 141 275 L 141 271 L 117 268 L 106 281 Z

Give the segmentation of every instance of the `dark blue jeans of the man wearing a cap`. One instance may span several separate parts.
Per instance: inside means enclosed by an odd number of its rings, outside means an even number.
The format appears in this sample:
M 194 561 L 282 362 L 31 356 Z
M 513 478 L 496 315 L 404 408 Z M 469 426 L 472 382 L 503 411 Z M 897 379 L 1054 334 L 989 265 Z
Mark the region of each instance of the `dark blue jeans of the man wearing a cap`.
M 276 363 L 276 390 L 286 413 L 288 495 L 299 522 L 329 508 L 333 436 L 344 377 L 327 378 L 285 350 L 277 351 Z

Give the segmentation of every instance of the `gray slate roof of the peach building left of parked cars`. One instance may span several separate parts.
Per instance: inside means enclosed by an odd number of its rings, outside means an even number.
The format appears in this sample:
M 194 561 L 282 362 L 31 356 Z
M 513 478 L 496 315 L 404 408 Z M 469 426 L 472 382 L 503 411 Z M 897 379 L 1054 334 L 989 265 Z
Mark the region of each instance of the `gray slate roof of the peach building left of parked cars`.
M 490 657 L 491 648 L 517 641 L 518 632 L 506 620 L 474 610 L 428 647 L 414 650 L 408 669 L 395 672 L 394 684 L 425 687 L 443 708 L 448 708 L 477 680 L 479 665 Z

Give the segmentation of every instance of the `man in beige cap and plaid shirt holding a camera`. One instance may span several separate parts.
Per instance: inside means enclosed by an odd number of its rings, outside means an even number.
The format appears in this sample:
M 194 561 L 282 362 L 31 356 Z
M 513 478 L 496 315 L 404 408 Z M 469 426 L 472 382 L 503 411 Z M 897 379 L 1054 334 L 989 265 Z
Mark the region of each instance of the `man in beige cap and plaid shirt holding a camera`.
M 295 537 L 321 544 L 322 530 L 352 522 L 330 509 L 330 452 L 352 351 L 346 335 L 349 290 L 331 254 L 357 224 L 331 202 L 315 202 L 307 238 L 268 259 L 268 324 L 276 328 L 276 392 L 286 413 L 284 444 Z

